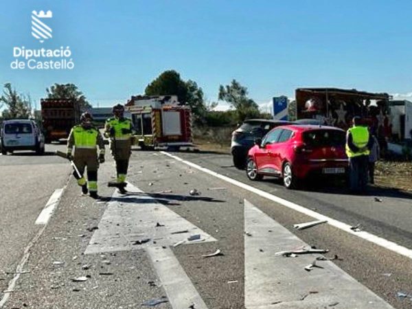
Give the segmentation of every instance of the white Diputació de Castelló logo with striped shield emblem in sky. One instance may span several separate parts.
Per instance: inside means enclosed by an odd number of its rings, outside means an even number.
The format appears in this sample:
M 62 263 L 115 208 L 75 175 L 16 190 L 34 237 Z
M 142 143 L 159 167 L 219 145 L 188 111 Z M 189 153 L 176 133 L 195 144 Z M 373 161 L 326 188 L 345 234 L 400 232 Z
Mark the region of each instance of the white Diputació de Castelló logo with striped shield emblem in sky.
M 53 17 L 53 12 L 32 11 L 31 30 L 32 36 L 40 43 L 53 38 L 53 30 L 49 21 Z M 69 46 L 58 48 L 31 49 L 25 46 L 13 47 L 14 59 L 10 62 L 11 69 L 73 69 L 74 62 Z

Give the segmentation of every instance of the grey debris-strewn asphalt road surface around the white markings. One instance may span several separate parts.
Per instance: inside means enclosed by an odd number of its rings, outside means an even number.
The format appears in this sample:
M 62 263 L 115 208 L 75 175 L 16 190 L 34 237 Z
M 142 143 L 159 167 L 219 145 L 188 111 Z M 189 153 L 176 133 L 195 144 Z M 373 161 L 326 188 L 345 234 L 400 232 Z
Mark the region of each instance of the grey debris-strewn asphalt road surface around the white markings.
M 174 155 L 337 220 L 351 225 L 360 223 L 371 233 L 412 247 L 410 196 L 381 190 L 366 196 L 351 196 L 339 184 L 289 191 L 276 180 L 251 183 L 244 171 L 232 166 L 229 155 L 211 152 L 175 152 Z M 106 159 L 108 157 L 106 155 Z M 1 237 L 6 239 L 1 242 L 0 269 L 10 271 L 21 260 L 24 247 L 38 231 L 34 226 L 36 216 L 53 191 L 65 186 L 70 168 L 60 158 L 47 156 L 1 156 L 0 164 L 2 175 L 11 177 L 1 179 L 2 188 L 5 188 L 2 200 L 7 200 L 0 206 L 5 214 L 0 219 Z M 4 308 L 146 308 L 141 305 L 144 301 L 165 296 L 144 250 L 84 254 L 95 233 L 93 228 L 99 227 L 106 202 L 113 196 L 113 188 L 106 186 L 113 177 L 113 161 L 109 159 L 99 172 L 100 195 L 105 197 L 99 203 L 81 196 L 73 177 L 69 178 L 54 215 L 30 250 L 30 258 L 24 267 L 30 272 L 21 275 Z M 19 179 L 25 179 L 24 184 Z M 378 297 L 395 308 L 412 308 L 410 299 L 396 296 L 398 291 L 412 292 L 412 262 L 409 258 L 330 225 L 297 231 L 293 224 L 312 218 L 190 168 L 160 152 L 133 151 L 128 181 L 155 198 L 157 203 L 216 238 L 217 242 L 172 247 L 208 308 L 244 308 L 245 198 L 307 244 L 329 249 L 326 256 L 338 255 L 339 260 L 334 263 Z M 190 195 L 193 189 L 201 194 Z M 382 198 L 382 203 L 375 201 L 376 196 Z M 124 216 L 126 222 L 128 215 Z M 216 249 L 223 255 L 202 257 Z M 63 264 L 55 265 L 54 262 Z M 90 265 L 89 269 L 82 269 L 85 264 Z M 86 275 L 89 277 L 85 282 L 72 281 Z M 0 279 L 4 279 L 0 280 L 1 290 L 7 288 L 11 276 L 0 274 Z M 156 308 L 171 307 L 163 303 Z M 339 304 L 335 308 L 347 307 Z

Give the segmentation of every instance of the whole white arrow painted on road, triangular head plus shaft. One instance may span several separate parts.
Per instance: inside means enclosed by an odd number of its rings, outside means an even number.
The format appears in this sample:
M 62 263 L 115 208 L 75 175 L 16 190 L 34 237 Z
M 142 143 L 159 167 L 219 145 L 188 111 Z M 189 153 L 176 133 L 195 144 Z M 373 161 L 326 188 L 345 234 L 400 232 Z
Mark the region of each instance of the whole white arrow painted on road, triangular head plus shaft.
M 172 308 L 189 308 L 195 304 L 195 308 L 207 309 L 170 246 L 194 234 L 199 234 L 202 242 L 216 239 L 130 183 L 127 190 L 127 195 L 113 194 L 100 220 L 99 229 L 93 234 L 84 253 L 146 249 Z M 157 223 L 161 226 L 157 227 Z M 150 240 L 133 244 L 145 239 Z

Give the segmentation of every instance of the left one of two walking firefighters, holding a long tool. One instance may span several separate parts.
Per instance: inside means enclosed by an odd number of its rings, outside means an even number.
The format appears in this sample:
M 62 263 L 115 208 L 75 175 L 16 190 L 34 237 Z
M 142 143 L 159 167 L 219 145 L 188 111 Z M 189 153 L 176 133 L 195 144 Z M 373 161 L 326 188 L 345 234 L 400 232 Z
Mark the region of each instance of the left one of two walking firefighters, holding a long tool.
M 98 196 L 98 167 L 104 162 L 104 141 L 102 134 L 91 122 L 91 113 L 82 113 L 80 125 L 73 126 L 67 141 L 67 159 L 73 160 L 78 168 L 80 178 L 76 171 L 73 175 L 82 187 L 83 194 L 90 192 L 92 198 Z M 74 156 L 72 155 L 74 146 Z M 99 147 L 99 155 L 98 148 Z M 84 169 L 87 169 L 87 180 L 84 178 Z

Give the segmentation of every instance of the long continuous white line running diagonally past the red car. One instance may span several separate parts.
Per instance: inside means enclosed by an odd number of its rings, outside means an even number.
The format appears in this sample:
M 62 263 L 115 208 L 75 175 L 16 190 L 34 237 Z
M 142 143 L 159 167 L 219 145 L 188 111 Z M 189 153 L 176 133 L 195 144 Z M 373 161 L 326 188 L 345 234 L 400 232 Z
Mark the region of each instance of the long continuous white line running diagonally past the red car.
M 372 242 L 374 244 L 378 244 L 378 246 L 383 247 L 385 249 L 388 249 L 390 251 L 399 253 L 400 255 L 404 255 L 407 258 L 412 259 L 412 250 L 408 249 L 406 247 L 401 246 L 400 244 L 397 244 L 396 242 L 391 242 L 390 240 L 386 240 L 385 238 L 381 238 L 379 236 L 376 236 L 374 234 L 368 233 L 367 231 L 352 231 L 351 226 L 347 225 L 344 222 L 341 222 L 339 220 L 330 218 L 328 216 L 325 216 L 323 214 L 319 214 L 319 212 L 310 210 L 306 207 L 303 207 L 301 205 L 297 205 L 295 203 L 292 203 L 290 201 L 285 200 L 284 198 L 279 198 L 279 196 L 275 196 L 273 194 L 270 194 L 268 192 L 265 192 L 263 190 L 260 190 L 256 187 L 252 187 L 251 185 L 247 185 L 246 183 L 242 183 L 240 181 L 236 181 L 235 179 L 231 179 L 227 176 L 224 176 L 222 174 L 219 174 L 217 172 L 214 172 L 212 170 L 208 170 L 207 168 L 203 168 L 200 165 L 197 165 L 195 163 L 192 163 L 190 161 L 186 161 L 181 159 L 180 157 L 176 157 L 174 155 L 170 155 L 170 153 L 161 151 L 163 155 L 167 155 L 168 157 L 171 157 L 177 161 L 180 161 L 182 163 L 185 163 L 189 166 L 192 166 L 192 168 L 196 168 L 197 170 L 201 170 L 202 172 L 205 172 L 211 176 L 215 176 L 218 179 L 222 179 L 223 181 L 227 181 L 228 183 L 231 183 L 232 185 L 236 185 L 238 187 L 241 187 L 244 190 L 248 190 L 250 192 L 253 192 L 255 194 L 258 194 L 259 196 L 262 196 L 264 198 L 267 198 L 270 201 L 273 201 L 275 203 L 278 203 L 280 205 L 283 205 L 285 207 L 288 207 L 290 209 L 293 209 L 295 211 L 299 211 L 301 214 L 306 214 L 307 216 L 311 216 L 317 220 L 327 220 L 328 225 L 332 225 L 332 227 L 336 227 L 338 229 L 341 229 L 342 231 L 345 231 L 347 233 L 350 233 L 353 236 L 356 236 L 358 238 L 362 238 L 364 240 L 367 240 L 369 242 Z

